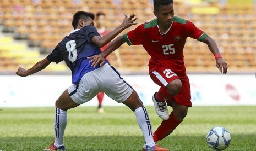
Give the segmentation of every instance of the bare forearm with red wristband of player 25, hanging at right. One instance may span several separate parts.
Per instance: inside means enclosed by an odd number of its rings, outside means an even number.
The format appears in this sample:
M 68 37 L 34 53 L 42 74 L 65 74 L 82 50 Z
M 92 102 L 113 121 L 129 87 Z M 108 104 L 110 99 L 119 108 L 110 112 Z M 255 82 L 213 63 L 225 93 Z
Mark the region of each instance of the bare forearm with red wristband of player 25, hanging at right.
M 213 38 L 207 36 L 204 40 L 204 43 L 206 43 L 211 51 L 211 53 L 213 53 L 215 55 L 216 58 L 216 66 L 217 68 L 219 68 L 220 72 L 223 74 L 227 73 L 227 63 L 225 62 L 224 59 L 222 59 L 220 54 L 220 51 L 217 47 L 216 42 L 214 41 Z

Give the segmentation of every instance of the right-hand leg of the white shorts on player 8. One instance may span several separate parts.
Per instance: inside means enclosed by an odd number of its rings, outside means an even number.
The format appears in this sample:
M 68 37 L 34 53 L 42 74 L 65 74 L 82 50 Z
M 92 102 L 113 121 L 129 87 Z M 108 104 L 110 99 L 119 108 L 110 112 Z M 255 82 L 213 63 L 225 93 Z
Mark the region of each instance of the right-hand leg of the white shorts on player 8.
M 103 75 L 99 74 L 99 78 L 105 79 L 100 80 L 102 82 L 101 90 L 118 103 L 126 101 L 133 92 L 132 86 L 110 65 L 106 65 L 103 72 Z

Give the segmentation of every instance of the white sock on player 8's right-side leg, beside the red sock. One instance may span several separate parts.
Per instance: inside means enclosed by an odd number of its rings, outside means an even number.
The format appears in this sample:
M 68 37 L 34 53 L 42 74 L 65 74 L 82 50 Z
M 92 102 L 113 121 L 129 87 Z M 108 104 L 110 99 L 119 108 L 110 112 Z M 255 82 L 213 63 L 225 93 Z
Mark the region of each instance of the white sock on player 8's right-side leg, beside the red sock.
M 143 132 L 146 145 L 150 147 L 155 146 L 155 142 L 153 140 L 153 135 L 152 135 L 152 126 L 149 120 L 148 113 L 146 113 L 146 108 L 139 107 L 135 109 L 134 112 L 136 114 L 138 125 Z

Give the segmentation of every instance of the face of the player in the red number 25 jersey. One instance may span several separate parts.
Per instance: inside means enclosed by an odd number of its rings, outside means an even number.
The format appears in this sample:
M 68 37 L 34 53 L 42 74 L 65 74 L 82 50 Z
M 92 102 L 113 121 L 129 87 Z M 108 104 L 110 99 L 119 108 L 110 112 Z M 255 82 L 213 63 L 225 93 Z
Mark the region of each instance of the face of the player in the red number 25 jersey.
M 170 26 L 174 16 L 173 4 L 161 5 L 158 11 L 154 11 L 154 14 L 160 24 Z

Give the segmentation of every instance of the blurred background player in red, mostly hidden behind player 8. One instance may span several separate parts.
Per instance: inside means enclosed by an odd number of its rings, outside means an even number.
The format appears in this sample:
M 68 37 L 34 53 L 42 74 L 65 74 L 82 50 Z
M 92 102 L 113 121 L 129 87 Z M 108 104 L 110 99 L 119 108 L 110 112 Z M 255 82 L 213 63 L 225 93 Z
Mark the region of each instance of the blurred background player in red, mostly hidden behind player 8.
M 101 37 L 105 36 L 106 34 L 110 33 L 111 31 L 106 30 L 105 28 L 105 14 L 102 12 L 99 12 L 96 14 L 96 29 L 97 32 L 100 34 Z M 100 50 L 104 51 L 107 48 L 107 45 L 104 45 L 104 47 L 101 47 Z M 114 51 L 114 54 L 116 55 L 116 59 L 117 59 L 117 63 L 118 66 L 122 66 L 122 61 L 121 61 L 121 57 L 119 54 L 119 51 Z M 106 57 L 107 60 L 110 60 L 108 57 Z M 104 92 L 99 92 L 97 94 L 97 99 L 99 101 L 99 105 L 97 108 L 97 112 L 99 113 L 104 113 L 104 109 L 102 108 L 102 101 L 103 101 L 103 97 L 104 97 Z

